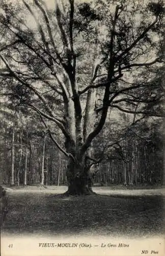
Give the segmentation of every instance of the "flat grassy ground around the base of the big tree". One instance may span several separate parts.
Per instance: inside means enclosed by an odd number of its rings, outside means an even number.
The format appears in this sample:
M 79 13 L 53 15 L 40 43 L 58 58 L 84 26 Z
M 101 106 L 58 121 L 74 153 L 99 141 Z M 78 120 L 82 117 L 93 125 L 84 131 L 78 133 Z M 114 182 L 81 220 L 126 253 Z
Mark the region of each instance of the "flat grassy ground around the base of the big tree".
M 94 187 L 97 195 L 61 197 L 66 186 L 7 187 L 3 234 L 151 237 L 163 234 L 164 188 Z

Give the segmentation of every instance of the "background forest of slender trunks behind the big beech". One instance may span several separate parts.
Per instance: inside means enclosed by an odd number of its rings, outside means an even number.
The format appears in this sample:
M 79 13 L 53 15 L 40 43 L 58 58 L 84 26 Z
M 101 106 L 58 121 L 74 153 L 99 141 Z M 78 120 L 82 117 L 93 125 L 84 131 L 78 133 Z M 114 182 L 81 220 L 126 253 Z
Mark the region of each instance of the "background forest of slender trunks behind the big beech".
M 9 102 L 7 102 L 8 104 Z M 4 104 L 4 103 L 3 103 Z M 163 125 L 161 119 L 144 119 L 143 123 L 121 131 L 119 123 L 127 124 L 124 113 L 106 124 L 107 135 L 103 145 L 96 140 L 97 155 L 105 150 L 102 160 L 93 168 L 94 183 L 163 184 Z M 105 131 L 106 132 L 106 131 Z M 116 139 L 114 143 L 111 141 Z M 55 132 L 54 132 L 55 133 Z M 111 134 L 111 135 L 110 135 Z M 1 182 L 15 185 L 67 184 L 67 158 L 45 131 L 39 119 L 21 112 L 1 110 Z M 62 135 L 56 131 L 56 136 Z M 120 147 L 118 143 L 120 141 Z M 109 144 L 114 144 L 110 146 Z M 13 177 L 12 177 L 13 174 Z

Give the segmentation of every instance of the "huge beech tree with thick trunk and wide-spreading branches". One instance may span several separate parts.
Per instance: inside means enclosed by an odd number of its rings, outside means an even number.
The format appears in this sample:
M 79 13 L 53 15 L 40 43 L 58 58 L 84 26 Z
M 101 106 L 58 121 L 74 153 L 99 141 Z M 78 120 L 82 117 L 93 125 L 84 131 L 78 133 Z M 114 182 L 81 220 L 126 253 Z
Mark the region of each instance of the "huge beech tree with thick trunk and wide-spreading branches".
M 136 120 L 162 115 L 162 92 L 152 83 L 162 61 L 162 3 L 116 2 L 1 0 L 2 84 L 10 99 L 38 113 L 68 157 L 72 195 L 92 193 L 92 142 L 109 108 Z M 48 120 L 63 133 L 65 148 Z

